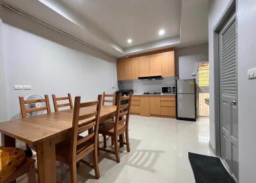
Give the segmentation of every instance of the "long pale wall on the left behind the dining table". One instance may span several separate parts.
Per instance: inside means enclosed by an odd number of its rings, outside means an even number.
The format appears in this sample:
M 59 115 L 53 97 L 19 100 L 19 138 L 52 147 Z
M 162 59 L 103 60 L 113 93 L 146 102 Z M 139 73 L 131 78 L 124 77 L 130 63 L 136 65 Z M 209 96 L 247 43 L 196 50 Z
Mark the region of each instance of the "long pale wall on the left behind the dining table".
M 118 90 L 114 58 L 3 6 L 0 8 L 0 19 L 3 20 L 3 59 L 0 57 L 0 69 L 3 71 L 4 64 L 8 118 L 19 116 L 19 95 L 55 93 L 63 96 L 72 93 L 73 97 L 81 95 L 82 100 L 86 101 L 96 99 L 102 92 Z M 29 84 L 32 90 L 13 90 L 14 84 Z M 115 88 L 111 88 L 111 85 Z M 2 96 L 4 91 L 0 89 Z

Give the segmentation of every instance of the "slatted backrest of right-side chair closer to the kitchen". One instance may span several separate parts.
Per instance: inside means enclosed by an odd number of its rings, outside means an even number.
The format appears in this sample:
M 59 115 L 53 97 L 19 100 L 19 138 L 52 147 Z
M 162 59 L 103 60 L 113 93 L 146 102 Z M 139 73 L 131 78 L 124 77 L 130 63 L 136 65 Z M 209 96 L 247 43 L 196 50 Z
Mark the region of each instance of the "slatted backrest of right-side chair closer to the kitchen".
M 122 97 L 121 93 L 118 93 L 114 132 L 116 132 L 116 130 L 117 130 L 118 123 L 125 122 L 126 127 L 128 127 L 128 125 L 129 125 L 131 97 L 132 97 L 132 92 L 130 92 L 129 95 L 125 96 L 125 97 Z M 121 103 L 124 100 L 125 100 L 126 104 L 122 105 Z

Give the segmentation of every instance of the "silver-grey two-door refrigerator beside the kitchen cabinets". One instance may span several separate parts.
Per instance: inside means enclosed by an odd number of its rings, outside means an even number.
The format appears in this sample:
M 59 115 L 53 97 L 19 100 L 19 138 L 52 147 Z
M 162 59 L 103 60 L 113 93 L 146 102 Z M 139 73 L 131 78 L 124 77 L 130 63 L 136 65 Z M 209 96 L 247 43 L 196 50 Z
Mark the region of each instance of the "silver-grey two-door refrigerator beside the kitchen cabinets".
M 177 120 L 196 121 L 195 79 L 177 79 L 176 88 Z

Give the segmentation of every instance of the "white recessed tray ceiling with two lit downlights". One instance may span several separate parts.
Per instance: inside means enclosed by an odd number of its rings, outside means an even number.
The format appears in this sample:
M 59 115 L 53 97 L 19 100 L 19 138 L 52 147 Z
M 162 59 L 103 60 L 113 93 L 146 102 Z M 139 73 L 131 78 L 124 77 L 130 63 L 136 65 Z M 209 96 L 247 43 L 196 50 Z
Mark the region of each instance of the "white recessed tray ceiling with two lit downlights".
M 6 2 L 116 57 L 208 42 L 207 0 Z

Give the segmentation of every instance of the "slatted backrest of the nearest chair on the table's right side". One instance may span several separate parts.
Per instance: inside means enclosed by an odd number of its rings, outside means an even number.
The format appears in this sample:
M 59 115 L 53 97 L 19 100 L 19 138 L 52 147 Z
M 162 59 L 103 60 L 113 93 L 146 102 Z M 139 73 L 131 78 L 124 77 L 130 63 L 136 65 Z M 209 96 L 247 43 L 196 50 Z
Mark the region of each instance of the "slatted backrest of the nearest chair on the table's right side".
M 92 148 L 94 146 L 94 149 L 97 150 L 102 95 L 98 95 L 98 99 L 92 102 L 81 103 L 80 100 L 81 97 L 75 98 L 71 138 L 72 148 L 70 148 L 70 156 L 79 156 L 79 159 L 83 157 L 83 155 L 86 155 L 88 152 L 90 152 L 87 150 L 87 148 Z M 89 113 L 87 113 L 86 107 L 88 108 Z M 84 110 L 82 108 L 84 108 Z M 83 112 L 86 111 L 85 115 L 80 115 L 81 109 Z M 88 122 L 84 122 L 83 125 L 79 125 L 79 121 L 82 120 L 88 120 Z M 93 129 L 93 131 L 90 132 L 90 129 Z M 78 138 L 78 134 L 81 134 L 85 131 L 88 131 L 88 135 L 84 136 L 83 138 L 79 136 Z M 88 141 L 93 141 L 93 144 L 90 145 L 90 147 L 84 147 L 84 149 L 80 148 L 78 152 L 77 146 Z

